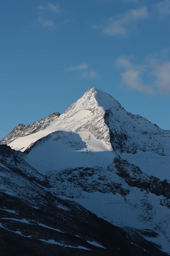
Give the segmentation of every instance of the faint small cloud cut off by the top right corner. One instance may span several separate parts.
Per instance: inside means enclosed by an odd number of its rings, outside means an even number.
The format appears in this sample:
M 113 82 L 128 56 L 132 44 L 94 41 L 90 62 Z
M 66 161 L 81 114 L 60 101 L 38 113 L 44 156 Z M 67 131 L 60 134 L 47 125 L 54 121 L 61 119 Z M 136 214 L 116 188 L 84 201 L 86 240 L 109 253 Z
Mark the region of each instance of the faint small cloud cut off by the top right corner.
M 160 18 L 165 18 L 170 15 L 170 0 L 158 2 L 154 6 L 155 11 L 159 14 Z

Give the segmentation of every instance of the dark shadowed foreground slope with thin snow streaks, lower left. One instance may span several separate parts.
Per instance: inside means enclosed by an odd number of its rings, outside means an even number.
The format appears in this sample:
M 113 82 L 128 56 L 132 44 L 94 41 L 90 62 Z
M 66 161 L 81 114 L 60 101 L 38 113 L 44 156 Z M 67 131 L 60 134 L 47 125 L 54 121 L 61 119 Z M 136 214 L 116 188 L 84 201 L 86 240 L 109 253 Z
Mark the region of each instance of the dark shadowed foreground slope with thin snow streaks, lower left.
M 120 228 L 80 204 L 50 193 L 47 178 L 0 145 L 1 256 L 166 256 L 143 236 L 151 230 Z

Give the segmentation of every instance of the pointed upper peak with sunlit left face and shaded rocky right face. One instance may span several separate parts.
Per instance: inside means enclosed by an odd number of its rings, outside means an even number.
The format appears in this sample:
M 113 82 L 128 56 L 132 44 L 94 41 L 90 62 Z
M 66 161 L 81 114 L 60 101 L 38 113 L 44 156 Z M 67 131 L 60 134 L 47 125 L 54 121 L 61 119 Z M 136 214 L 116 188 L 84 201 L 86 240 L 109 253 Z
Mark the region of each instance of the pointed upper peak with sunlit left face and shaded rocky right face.
M 151 124 L 146 118 L 126 112 L 116 99 L 96 88 L 87 90 L 62 115 L 48 118 L 48 123 L 45 122 L 43 127 L 40 126 L 40 121 L 33 125 L 34 132 L 32 126 L 29 127 L 30 132 L 24 127 L 22 132 L 17 132 L 17 138 L 13 134 L 16 134 L 18 129 L 14 128 L 1 140 L 1 144 L 5 143 L 15 150 L 25 151 L 38 139 L 62 130 L 79 134 L 87 144 L 89 133 L 90 138 L 94 136 L 95 139 L 101 140 L 103 150 L 133 154 L 142 150 L 164 155 L 163 147 L 154 137 L 156 134 L 163 135 L 164 130 Z

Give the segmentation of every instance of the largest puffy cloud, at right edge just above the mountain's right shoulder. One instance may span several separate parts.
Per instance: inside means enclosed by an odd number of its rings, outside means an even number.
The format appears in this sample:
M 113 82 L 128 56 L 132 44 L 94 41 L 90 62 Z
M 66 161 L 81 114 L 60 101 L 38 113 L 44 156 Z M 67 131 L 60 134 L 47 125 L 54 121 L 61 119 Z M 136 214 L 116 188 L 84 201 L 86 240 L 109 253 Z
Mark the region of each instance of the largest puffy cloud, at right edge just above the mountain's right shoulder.
M 131 58 L 119 56 L 115 63 L 117 68 L 122 69 L 122 85 L 145 94 L 170 93 L 170 61 L 160 62 L 151 57 L 147 62 L 136 65 Z M 152 83 L 146 84 L 144 76 L 147 80 L 152 77 Z

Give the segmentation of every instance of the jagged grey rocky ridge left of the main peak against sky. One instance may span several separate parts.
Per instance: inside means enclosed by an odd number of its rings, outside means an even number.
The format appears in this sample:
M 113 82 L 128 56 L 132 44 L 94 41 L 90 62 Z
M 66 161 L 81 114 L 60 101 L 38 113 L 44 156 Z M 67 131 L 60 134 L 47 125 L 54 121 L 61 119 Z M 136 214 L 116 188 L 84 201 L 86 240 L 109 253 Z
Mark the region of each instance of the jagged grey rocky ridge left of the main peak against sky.
M 46 126 L 49 123 L 54 121 L 58 116 L 60 116 L 60 113 L 55 112 L 53 114 L 50 114 L 46 118 L 34 122 L 32 125 L 19 124 L 5 138 L 0 140 L 0 144 L 9 144 L 10 142 L 17 138 L 24 137 L 38 131 L 42 131 L 46 128 Z

